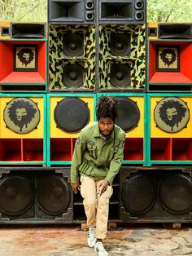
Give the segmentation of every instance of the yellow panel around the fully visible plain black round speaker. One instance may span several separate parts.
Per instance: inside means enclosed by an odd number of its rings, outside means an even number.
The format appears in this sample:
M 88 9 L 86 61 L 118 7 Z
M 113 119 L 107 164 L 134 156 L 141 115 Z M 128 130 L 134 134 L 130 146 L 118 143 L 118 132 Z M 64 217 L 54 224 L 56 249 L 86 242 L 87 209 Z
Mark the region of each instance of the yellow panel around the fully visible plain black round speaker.
M 67 97 L 50 97 L 50 138 L 77 138 L 79 135 L 78 133 L 69 133 L 64 130 L 59 129 L 57 127 L 56 122 L 54 120 L 54 110 L 57 106 L 57 103 L 65 99 Z M 94 121 L 94 97 L 77 97 L 78 99 L 81 99 L 85 101 L 89 108 L 89 113 L 90 113 L 90 119 L 89 123 Z M 83 113 L 82 113 L 83 115 Z

